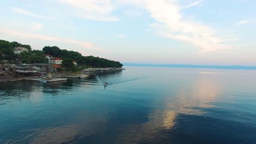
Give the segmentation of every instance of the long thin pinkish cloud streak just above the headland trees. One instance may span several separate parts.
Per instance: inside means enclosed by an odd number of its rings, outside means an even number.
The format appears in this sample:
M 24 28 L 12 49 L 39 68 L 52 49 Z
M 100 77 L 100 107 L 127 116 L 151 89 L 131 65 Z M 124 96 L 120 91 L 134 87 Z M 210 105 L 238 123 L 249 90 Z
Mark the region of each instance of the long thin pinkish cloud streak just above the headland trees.
M 40 40 L 56 41 L 59 43 L 62 42 L 62 43 L 69 43 L 69 44 L 78 44 L 86 49 L 94 49 L 94 50 L 101 50 L 101 51 L 104 50 L 96 47 L 94 44 L 83 42 L 83 41 L 71 40 L 71 39 L 62 39 L 62 38 L 48 37 L 44 35 L 28 34 L 28 33 L 10 31 L 10 30 L 1 29 L 1 28 L 0 28 L 0 33 L 4 33 L 8 35 L 16 35 L 21 38 L 33 38 L 33 39 L 40 39 Z

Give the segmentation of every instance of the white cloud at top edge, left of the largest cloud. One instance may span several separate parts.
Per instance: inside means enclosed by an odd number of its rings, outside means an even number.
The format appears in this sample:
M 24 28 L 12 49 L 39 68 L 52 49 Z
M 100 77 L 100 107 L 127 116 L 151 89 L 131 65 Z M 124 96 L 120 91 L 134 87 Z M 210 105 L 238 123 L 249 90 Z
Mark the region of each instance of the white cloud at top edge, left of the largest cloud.
M 72 13 L 82 19 L 90 19 L 97 21 L 118 21 L 117 16 L 110 15 L 114 7 L 110 0 L 58 0 L 61 3 L 69 5 L 73 8 Z

